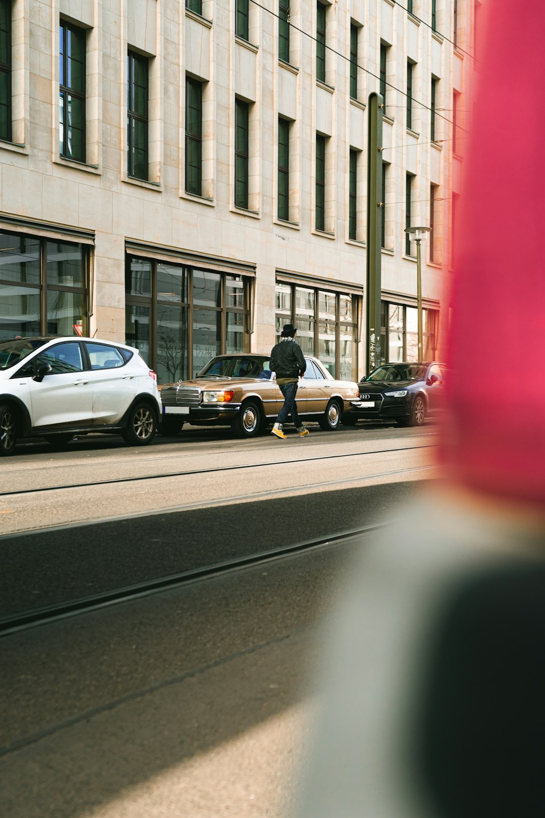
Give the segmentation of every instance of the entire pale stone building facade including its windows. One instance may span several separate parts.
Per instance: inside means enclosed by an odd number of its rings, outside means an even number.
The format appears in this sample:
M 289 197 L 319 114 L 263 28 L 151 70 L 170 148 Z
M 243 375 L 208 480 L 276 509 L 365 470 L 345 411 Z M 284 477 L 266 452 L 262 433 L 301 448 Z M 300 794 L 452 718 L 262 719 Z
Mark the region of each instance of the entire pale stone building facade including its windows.
M 141 348 L 159 382 L 294 321 L 364 372 L 367 116 L 385 96 L 382 357 L 448 323 L 474 0 L 0 0 L 0 338 Z M 409 101 L 409 102 L 408 102 Z

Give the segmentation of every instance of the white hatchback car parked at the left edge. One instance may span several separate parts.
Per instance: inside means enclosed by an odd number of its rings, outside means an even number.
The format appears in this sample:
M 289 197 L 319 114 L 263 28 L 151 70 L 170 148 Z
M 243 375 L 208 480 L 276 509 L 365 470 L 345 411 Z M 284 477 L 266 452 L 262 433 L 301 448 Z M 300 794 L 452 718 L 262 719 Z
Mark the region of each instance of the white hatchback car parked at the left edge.
M 94 338 L 0 342 L 0 455 L 18 438 L 62 446 L 83 432 L 151 443 L 161 417 L 157 376 L 137 349 Z

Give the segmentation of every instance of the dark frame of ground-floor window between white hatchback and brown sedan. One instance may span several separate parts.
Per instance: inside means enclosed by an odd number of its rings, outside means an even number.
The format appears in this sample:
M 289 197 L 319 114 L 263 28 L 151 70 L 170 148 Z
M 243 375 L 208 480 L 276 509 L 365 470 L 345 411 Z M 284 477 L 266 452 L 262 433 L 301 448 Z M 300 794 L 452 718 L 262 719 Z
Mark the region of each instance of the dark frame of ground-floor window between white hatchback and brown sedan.
M 136 261 L 147 262 L 150 263 L 151 267 L 151 279 L 150 279 L 150 294 L 145 295 L 136 295 L 131 294 L 127 291 L 127 281 L 131 280 L 131 261 L 135 259 Z M 159 293 L 157 291 L 157 267 L 159 264 L 164 264 L 165 262 L 160 258 L 144 258 L 139 256 L 137 253 L 127 253 L 125 256 L 125 309 L 130 307 L 145 307 L 150 310 L 150 324 L 149 324 L 149 347 L 150 347 L 150 359 L 147 361 L 150 364 L 151 369 L 157 371 L 157 320 L 158 320 L 158 306 L 172 306 L 172 302 L 168 301 L 168 299 L 161 299 L 159 297 Z M 188 378 L 190 378 L 193 371 L 193 357 L 194 357 L 194 349 L 193 349 L 193 319 L 194 319 L 194 291 L 193 291 L 193 275 L 194 271 L 203 271 L 203 272 L 214 272 L 218 273 L 217 270 L 210 270 L 208 271 L 205 266 L 201 265 L 193 265 L 190 266 L 183 262 L 179 262 L 176 259 L 173 259 L 172 262 L 169 262 L 172 267 L 181 267 L 185 268 L 187 272 L 187 300 L 176 302 L 176 307 L 186 308 L 187 309 L 187 370 L 188 370 Z M 244 349 L 243 353 L 250 352 L 250 299 L 251 299 L 251 286 L 252 280 L 250 276 L 244 276 L 242 273 L 240 274 L 240 278 L 243 281 L 243 307 L 229 307 L 227 304 L 227 283 L 228 279 L 235 275 L 233 272 L 219 272 L 221 276 L 221 285 L 219 288 L 220 294 L 220 304 L 213 306 L 210 304 L 206 309 L 210 312 L 217 312 L 221 313 L 221 355 L 228 354 L 226 353 L 227 348 L 227 314 L 237 314 L 243 315 L 246 318 L 244 322 Z M 197 305 L 199 306 L 199 305 Z M 133 344 L 134 345 L 134 344 Z

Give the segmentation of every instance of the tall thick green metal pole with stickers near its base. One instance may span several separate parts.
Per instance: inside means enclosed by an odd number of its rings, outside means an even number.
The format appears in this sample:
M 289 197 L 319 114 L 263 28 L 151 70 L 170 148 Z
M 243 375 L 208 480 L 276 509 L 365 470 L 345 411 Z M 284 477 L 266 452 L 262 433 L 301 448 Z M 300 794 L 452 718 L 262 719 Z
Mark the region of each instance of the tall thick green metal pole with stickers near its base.
M 367 344 L 366 372 L 381 359 L 382 111 L 381 94 L 369 94 L 367 138 Z

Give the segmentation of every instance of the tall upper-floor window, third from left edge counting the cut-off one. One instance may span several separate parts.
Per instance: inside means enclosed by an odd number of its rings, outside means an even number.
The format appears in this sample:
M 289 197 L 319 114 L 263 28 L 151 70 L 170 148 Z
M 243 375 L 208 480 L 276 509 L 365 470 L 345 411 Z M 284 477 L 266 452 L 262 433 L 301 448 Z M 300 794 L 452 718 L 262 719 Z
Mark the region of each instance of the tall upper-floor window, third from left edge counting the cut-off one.
M 148 59 L 127 55 L 127 173 L 148 178 Z

